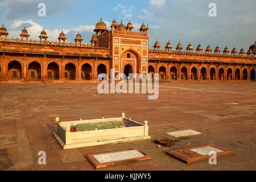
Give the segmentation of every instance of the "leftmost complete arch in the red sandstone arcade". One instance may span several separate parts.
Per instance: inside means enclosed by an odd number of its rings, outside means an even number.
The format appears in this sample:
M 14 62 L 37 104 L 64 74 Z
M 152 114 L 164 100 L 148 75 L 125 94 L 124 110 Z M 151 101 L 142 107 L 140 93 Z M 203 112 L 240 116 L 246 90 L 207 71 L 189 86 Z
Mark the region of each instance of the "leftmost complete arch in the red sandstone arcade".
M 18 61 L 11 61 L 8 64 L 8 78 L 20 80 L 22 78 L 22 65 Z

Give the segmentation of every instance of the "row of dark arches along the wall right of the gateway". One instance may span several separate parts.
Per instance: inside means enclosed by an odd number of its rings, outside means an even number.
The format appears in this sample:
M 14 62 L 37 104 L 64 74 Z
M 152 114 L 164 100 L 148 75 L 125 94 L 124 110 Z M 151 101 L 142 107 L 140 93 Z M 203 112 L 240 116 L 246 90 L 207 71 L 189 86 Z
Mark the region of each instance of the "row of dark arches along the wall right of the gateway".
M 156 69 L 158 67 L 158 69 Z M 199 71 L 200 70 L 200 71 Z M 148 73 L 159 73 L 160 80 L 200 80 L 200 81 L 236 81 L 256 80 L 256 67 L 225 67 L 218 65 L 171 65 L 171 64 L 150 64 Z M 249 74 L 250 72 L 250 74 Z M 242 75 L 241 75 L 242 73 Z M 189 75 L 189 76 L 188 76 Z M 241 77 L 242 76 L 242 77 Z

